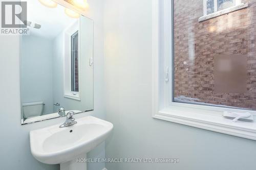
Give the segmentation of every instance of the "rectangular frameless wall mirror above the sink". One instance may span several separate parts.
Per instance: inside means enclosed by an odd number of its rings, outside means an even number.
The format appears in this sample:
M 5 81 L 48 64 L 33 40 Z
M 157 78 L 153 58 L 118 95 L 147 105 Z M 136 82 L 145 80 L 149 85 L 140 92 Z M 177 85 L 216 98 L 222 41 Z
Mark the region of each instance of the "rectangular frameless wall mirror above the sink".
M 93 21 L 61 5 L 28 1 L 20 36 L 21 122 L 93 110 Z

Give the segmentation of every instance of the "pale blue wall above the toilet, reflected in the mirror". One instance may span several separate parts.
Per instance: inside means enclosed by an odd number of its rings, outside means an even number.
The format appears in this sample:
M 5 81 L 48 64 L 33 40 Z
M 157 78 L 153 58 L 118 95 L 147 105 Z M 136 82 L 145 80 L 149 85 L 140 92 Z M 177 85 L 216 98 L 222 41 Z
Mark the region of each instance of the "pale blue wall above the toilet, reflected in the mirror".
M 20 39 L 22 103 L 44 102 L 42 114 L 53 112 L 53 43 L 39 36 Z

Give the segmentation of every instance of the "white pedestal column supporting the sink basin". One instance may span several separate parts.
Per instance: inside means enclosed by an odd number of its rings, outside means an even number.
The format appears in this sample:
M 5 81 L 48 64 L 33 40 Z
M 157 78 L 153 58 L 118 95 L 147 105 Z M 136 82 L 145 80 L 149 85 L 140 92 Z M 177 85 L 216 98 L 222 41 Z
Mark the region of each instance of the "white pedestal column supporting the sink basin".
M 60 163 L 60 170 L 87 170 L 86 157 L 84 154 L 72 161 Z

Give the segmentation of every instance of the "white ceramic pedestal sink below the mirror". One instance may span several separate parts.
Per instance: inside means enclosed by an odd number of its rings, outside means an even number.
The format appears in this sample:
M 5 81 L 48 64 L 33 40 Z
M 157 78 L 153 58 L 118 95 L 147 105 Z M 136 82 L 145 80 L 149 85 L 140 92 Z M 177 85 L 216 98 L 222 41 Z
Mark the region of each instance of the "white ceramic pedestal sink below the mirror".
M 93 116 L 76 119 L 67 128 L 59 125 L 30 131 L 31 153 L 38 161 L 60 164 L 61 170 L 86 170 L 87 164 L 77 162 L 102 143 L 113 129 L 113 124 Z

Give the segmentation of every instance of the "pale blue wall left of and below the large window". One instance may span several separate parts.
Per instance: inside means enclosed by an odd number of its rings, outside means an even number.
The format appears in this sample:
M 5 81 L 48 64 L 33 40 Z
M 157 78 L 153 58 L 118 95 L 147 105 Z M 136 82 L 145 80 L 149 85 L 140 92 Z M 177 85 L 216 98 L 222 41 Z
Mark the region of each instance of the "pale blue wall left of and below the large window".
M 110 158 L 179 158 L 179 164 L 106 164 L 109 170 L 256 168 L 256 142 L 153 119 L 150 0 L 104 3 L 106 119 Z

